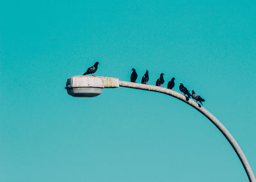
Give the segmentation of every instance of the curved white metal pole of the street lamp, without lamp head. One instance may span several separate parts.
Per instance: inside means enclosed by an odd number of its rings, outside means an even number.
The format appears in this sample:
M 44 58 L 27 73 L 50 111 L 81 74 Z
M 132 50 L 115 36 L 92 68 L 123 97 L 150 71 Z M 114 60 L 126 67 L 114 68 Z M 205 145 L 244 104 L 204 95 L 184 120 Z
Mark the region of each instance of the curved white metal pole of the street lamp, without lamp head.
M 134 82 L 125 82 L 125 81 L 122 81 L 122 80 L 119 80 L 119 86 L 121 86 L 121 87 L 130 87 L 130 88 L 134 88 L 134 89 L 143 89 L 143 90 L 147 90 L 147 91 L 155 91 L 155 92 L 159 92 L 159 93 L 164 93 L 166 95 L 173 96 L 173 97 L 175 97 L 175 98 L 177 98 L 179 100 L 182 100 L 183 102 L 188 103 L 189 105 L 194 107 L 196 110 L 198 110 L 199 112 L 204 114 L 204 116 L 206 116 L 206 118 L 208 118 L 220 130 L 220 132 L 226 137 L 228 142 L 231 144 L 232 148 L 236 151 L 236 154 L 239 157 L 239 159 L 241 160 L 249 180 L 251 182 L 256 182 L 256 179 L 255 179 L 255 176 L 253 175 L 253 172 L 252 172 L 252 169 L 250 167 L 250 164 L 248 163 L 248 161 L 247 161 L 243 151 L 241 150 L 241 148 L 237 144 L 237 142 L 234 139 L 234 137 L 232 137 L 230 132 L 228 132 L 227 128 L 225 128 L 225 126 L 222 125 L 220 123 L 220 121 L 217 118 L 215 118 L 211 114 L 211 112 L 206 110 L 204 107 L 199 107 L 198 103 L 194 102 L 193 100 L 189 99 L 187 101 L 186 100 L 186 96 L 184 96 L 184 95 L 182 95 L 180 93 L 177 93 L 176 91 L 173 91 L 171 89 L 166 89 L 164 87 L 151 86 L 151 85 L 147 85 L 147 84 L 138 84 L 138 83 L 134 83 Z

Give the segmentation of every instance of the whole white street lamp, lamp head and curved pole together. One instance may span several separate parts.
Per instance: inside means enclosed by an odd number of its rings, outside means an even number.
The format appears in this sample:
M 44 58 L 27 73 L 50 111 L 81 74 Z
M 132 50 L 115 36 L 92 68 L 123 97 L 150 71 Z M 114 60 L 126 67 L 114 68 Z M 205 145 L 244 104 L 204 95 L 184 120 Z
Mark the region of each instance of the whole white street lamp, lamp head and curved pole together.
M 186 96 L 173 91 L 172 89 L 166 89 L 164 87 L 152 86 L 147 84 L 138 84 L 134 82 L 125 82 L 116 78 L 111 77 L 93 77 L 93 76 L 74 76 L 67 79 L 67 92 L 69 95 L 78 96 L 78 97 L 92 97 L 98 96 L 102 93 L 103 88 L 115 88 L 115 87 L 130 87 L 134 89 L 143 89 L 147 91 L 155 91 L 159 93 L 164 93 L 166 95 L 173 96 L 185 103 L 188 103 L 196 110 L 204 114 L 225 136 L 228 142 L 231 144 L 234 151 L 236 151 L 237 156 L 239 157 L 241 163 L 243 164 L 244 170 L 250 180 L 250 182 L 256 182 L 255 176 L 253 175 L 250 164 L 248 163 L 243 151 L 237 144 L 236 140 L 227 128 L 220 123 L 220 121 L 215 118 L 211 112 L 206 110 L 204 107 L 198 105 L 198 103 L 193 100 L 186 98 Z

